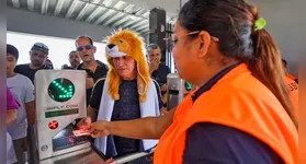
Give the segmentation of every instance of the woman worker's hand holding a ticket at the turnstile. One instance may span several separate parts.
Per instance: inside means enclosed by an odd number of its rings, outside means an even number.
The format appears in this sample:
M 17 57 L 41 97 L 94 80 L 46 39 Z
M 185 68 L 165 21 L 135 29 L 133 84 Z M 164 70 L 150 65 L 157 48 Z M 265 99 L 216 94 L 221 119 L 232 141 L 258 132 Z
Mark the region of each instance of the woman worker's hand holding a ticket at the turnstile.
M 91 124 L 89 131 L 92 138 L 105 137 L 111 132 L 110 121 L 99 120 Z

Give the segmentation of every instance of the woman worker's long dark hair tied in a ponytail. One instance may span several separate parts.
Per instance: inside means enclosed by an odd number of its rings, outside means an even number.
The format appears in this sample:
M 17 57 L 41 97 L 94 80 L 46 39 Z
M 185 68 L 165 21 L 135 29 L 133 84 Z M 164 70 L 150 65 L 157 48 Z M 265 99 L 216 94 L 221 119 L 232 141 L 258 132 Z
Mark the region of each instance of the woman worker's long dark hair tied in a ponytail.
M 188 32 L 206 31 L 219 38 L 220 52 L 245 61 L 298 127 L 284 82 L 280 50 L 264 28 L 256 31 L 258 19 L 257 9 L 243 0 L 189 0 L 181 9 L 178 21 Z

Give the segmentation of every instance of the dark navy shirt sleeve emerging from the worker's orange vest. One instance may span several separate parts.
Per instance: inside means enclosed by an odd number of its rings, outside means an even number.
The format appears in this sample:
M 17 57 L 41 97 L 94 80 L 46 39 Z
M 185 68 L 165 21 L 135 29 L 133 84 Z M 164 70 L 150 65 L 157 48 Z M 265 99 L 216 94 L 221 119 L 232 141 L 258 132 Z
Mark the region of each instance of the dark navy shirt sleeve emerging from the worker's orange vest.
M 284 164 L 269 145 L 238 129 L 200 122 L 186 132 L 183 164 Z

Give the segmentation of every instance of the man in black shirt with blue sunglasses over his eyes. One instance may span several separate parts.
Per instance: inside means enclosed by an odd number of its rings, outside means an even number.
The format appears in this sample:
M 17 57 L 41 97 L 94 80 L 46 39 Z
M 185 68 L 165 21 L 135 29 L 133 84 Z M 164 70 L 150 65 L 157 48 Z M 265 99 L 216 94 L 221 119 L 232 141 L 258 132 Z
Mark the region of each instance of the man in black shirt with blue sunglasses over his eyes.
M 77 69 L 86 70 L 87 72 L 86 93 L 87 93 L 87 106 L 88 106 L 90 103 L 90 96 L 94 83 L 99 79 L 106 77 L 109 67 L 105 63 L 94 59 L 97 47 L 93 46 L 93 42 L 89 36 L 80 35 L 76 39 L 76 47 L 77 47 L 77 52 L 79 54 L 82 60 L 82 63 L 80 63 Z

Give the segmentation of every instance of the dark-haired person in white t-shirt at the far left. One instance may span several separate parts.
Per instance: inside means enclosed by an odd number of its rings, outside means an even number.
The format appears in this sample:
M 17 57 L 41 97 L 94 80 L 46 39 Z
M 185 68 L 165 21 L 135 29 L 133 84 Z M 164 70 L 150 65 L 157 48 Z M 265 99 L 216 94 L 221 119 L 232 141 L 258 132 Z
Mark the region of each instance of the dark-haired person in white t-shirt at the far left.
M 34 86 L 29 78 L 14 72 L 18 58 L 18 49 L 12 45 L 7 45 L 7 85 L 21 105 L 18 118 L 8 127 L 8 132 L 13 140 L 18 163 L 24 164 L 26 162 L 24 151 L 26 150 L 27 124 L 35 124 Z

